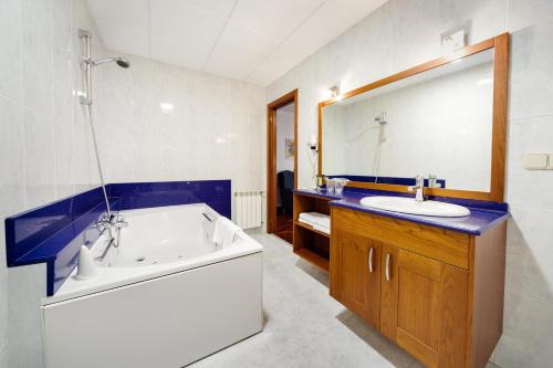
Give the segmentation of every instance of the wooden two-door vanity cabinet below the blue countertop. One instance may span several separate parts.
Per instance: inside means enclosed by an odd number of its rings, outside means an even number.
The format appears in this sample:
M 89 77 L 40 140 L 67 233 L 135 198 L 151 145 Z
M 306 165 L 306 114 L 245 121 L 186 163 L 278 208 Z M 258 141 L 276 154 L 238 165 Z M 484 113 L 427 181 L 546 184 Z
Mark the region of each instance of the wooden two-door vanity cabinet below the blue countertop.
M 486 366 L 502 332 L 504 222 L 473 236 L 333 207 L 331 233 L 334 298 L 428 367 Z

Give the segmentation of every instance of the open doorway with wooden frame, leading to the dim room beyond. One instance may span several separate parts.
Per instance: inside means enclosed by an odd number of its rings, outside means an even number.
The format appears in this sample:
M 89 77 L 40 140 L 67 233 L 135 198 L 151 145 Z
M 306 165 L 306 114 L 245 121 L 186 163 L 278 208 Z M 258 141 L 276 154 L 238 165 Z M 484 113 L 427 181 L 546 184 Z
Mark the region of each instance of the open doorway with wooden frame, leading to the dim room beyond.
M 298 188 L 298 90 L 267 106 L 267 232 L 292 243 Z

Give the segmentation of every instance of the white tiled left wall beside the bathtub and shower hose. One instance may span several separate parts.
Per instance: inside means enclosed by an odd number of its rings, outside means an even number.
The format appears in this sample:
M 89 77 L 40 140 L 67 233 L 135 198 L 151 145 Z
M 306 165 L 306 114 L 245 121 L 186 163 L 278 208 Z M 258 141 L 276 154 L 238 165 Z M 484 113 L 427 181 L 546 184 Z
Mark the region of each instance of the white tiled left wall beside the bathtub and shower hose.
M 97 183 L 86 111 L 74 95 L 82 90 L 76 29 L 97 33 L 84 0 L 9 0 L 0 10 L 0 44 L 10 53 L 0 56 L 3 233 L 4 217 Z M 93 52 L 105 53 L 97 36 Z M 41 367 L 43 265 L 8 272 L 3 235 L 0 249 L 0 366 Z

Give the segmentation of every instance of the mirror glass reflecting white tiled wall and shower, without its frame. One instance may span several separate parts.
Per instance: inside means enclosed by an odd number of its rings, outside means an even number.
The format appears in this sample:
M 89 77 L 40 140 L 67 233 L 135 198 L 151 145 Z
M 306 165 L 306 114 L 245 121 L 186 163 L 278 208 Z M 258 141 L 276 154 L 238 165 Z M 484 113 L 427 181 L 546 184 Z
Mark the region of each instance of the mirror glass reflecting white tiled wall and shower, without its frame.
M 492 107 L 493 49 L 338 101 L 322 111 L 322 172 L 490 191 Z

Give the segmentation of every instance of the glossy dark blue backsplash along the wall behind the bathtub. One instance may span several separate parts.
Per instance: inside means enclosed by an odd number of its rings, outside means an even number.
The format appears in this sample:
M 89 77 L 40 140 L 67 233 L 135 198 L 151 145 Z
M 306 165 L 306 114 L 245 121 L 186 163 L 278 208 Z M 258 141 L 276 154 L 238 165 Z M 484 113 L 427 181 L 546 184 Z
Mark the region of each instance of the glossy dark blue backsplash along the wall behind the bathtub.
M 136 182 L 107 185 L 112 210 L 207 203 L 231 215 L 230 180 Z M 105 213 L 101 188 L 6 219 L 9 267 L 46 263 L 46 295 L 61 287 L 75 267 L 81 245 L 100 236 L 95 228 Z

